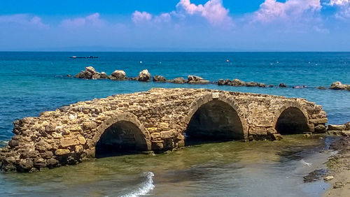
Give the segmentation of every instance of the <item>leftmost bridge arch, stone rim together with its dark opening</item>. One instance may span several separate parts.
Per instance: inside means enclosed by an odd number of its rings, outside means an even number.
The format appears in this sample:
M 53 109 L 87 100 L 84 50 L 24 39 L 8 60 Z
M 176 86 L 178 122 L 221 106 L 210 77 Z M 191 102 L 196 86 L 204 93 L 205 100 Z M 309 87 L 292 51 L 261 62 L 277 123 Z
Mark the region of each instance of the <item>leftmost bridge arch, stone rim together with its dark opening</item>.
M 94 137 L 95 156 L 130 151 L 151 150 L 151 138 L 139 119 L 131 113 L 113 115 L 97 127 Z

